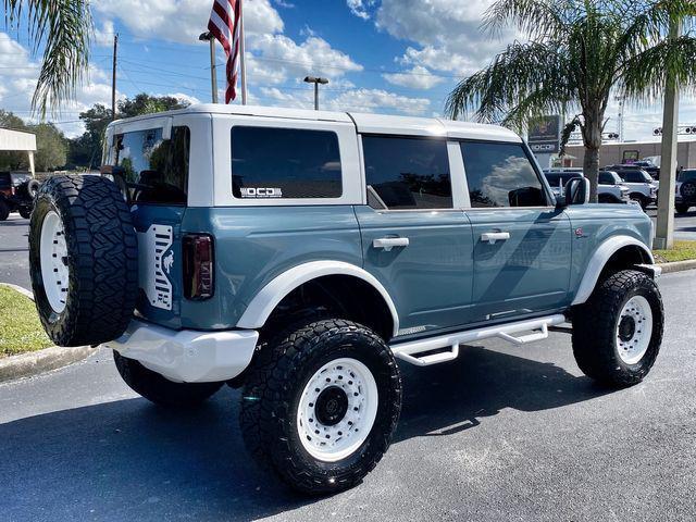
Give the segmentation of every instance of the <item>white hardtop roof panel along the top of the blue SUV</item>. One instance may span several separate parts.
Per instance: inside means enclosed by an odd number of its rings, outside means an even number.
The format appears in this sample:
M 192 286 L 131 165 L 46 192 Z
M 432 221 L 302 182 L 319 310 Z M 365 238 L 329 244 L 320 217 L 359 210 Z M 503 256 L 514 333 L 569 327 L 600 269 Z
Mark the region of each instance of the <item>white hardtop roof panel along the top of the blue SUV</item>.
M 261 117 L 282 117 L 289 120 L 310 120 L 324 122 L 344 122 L 356 124 L 361 134 L 390 134 L 400 136 L 443 136 L 461 139 L 485 139 L 521 142 L 512 130 L 497 125 L 456 122 L 438 117 L 393 116 L 358 112 L 313 111 L 308 109 L 286 109 L 279 107 L 237 105 L 222 103 L 202 103 L 177 111 L 147 114 L 128 120 L 117 120 L 111 125 L 123 125 L 149 119 L 161 119 L 177 114 L 206 113 L 250 115 Z

